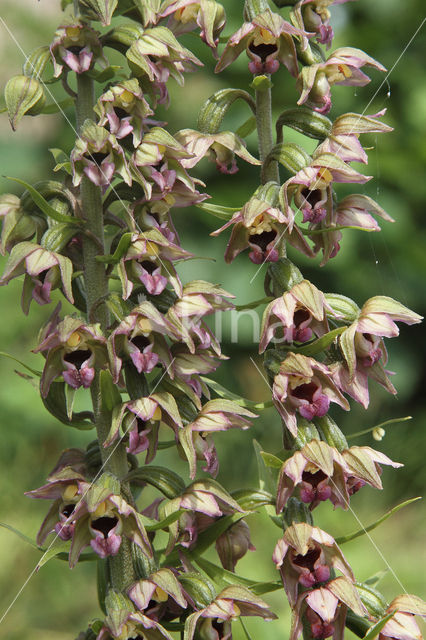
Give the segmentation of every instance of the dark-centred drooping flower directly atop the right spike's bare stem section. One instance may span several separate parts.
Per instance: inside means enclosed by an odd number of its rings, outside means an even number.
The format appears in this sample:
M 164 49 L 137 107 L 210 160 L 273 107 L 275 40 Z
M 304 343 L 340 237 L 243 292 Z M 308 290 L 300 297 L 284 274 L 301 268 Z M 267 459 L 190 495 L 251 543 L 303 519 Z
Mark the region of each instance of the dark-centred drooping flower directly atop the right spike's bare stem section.
M 296 48 L 293 37 L 304 41 L 305 31 L 294 27 L 278 13 L 267 9 L 251 22 L 244 22 L 228 40 L 216 65 L 216 72 L 226 69 L 245 50 L 250 58 L 249 70 L 253 74 L 270 74 L 280 64 L 293 76 L 298 73 Z

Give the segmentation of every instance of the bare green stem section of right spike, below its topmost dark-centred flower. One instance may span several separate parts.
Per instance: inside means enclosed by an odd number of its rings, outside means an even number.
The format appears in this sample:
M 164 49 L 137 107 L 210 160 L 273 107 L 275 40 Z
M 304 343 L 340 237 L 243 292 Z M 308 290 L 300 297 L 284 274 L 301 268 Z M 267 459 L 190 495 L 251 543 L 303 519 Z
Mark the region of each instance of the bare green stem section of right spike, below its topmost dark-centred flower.
M 269 80 L 269 76 L 267 76 L 267 78 Z M 274 146 L 272 137 L 271 87 L 266 87 L 264 84 L 256 89 L 256 124 L 260 160 L 263 163 Z M 279 182 L 279 179 L 278 162 L 268 162 L 264 169 L 262 167 L 262 184 L 270 180 Z

